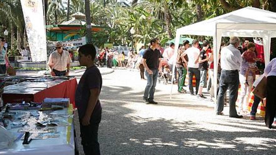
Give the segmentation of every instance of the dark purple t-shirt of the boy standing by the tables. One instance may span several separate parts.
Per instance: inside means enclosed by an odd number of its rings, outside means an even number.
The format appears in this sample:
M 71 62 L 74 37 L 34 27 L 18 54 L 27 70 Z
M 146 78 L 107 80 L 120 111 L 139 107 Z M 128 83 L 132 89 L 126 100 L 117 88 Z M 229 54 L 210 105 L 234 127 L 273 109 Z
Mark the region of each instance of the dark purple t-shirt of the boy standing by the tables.
M 78 116 L 81 119 L 86 112 L 89 97 L 90 89 L 98 88 L 101 92 L 102 89 L 102 75 L 99 69 L 94 65 L 85 70 L 83 73 L 79 84 L 77 85 L 77 90 L 75 94 L 75 104 L 78 110 Z M 100 100 L 98 99 L 92 116 L 96 116 L 102 110 Z

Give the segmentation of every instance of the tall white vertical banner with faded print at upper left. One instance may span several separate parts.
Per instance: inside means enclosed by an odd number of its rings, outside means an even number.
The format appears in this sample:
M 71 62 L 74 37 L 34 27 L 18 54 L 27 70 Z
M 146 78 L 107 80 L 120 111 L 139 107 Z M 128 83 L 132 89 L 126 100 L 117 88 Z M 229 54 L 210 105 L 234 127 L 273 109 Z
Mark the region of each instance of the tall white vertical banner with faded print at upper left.
M 21 0 L 32 61 L 47 59 L 42 0 Z

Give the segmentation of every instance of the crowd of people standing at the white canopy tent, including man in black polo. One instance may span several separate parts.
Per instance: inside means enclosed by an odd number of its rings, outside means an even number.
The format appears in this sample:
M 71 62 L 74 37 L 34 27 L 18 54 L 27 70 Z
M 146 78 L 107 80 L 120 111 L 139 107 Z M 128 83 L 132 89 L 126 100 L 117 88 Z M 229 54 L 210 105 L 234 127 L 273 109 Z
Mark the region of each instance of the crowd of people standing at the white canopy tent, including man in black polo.
M 199 41 L 194 40 L 190 47 L 188 40 L 184 40 L 182 46 L 179 46 L 178 53 L 174 54 L 174 44 L 162 51 L 159 50 L 159 40 L 154 38 L 150 42 L 148 49 L 143 50 L 142 65 L 145 68 L 147 85 L 145 88 L 143 100 L 146 104 L 157 104 L 154 101 L 155 86 L 160 73 L 167 69 L 173 71 L 174 61 L 178 76 L 175 79 L 178 83 L 178 92 L 187 93 L 183 88 L 186 75 L 188 73 L 188 88 L 190 95 L 197 95 L 198 98 L 206 99 L 202 90 L 207 87 L 210 92 L 210 100 L 217 98 L 216 114 L 223 115 L 223 109 L 226 105 L 226 91 L 229 90 L 229 117 L 242 118 L 247 114 L 248 97 L 252 91 L 252 85 L 256 80 L 258 68 L 256 62 L 261 59 L 257 58 L 255 44 L 246 40 L 241 48 L 240 39 L 231 37 L 229 43 L 221 44 L 219 51 L 218 76 L 214 78 L 214 55 L 213 49 L 207 40 L 203 41 L 202 48 L 199 47 Z M 266 126 L 271 128 L 275 118 L 275 76 L 276 60 L 273 59 L 264 70 L 268 77 L 267 87 L 267 105 L 266 105 Z M 165 65 L 163 65 L 165 64 Z M 141 67 L 141 68 L 143 68 Z M 158 73 L 159 72 L 159 73 Z M 209 75 L 207 80 L 207 75 Z M 193 77 L 195 77 L 195 91 L 193 87 Z M 218 89 L 214 90 L 214 80 L 218 81 Z M 238 96 L 238 89 L 241 88 Z M 217 96 L 214 96 L 217 91 Z M 274 94 L 274 95 L 273 95 Z M 236 111 L 236 101 L 239 97 L 238 111 Z M 250 112 L 250 119 L 256 120 L 256 112 L 260 98 L 254 96 L 254 102 Z

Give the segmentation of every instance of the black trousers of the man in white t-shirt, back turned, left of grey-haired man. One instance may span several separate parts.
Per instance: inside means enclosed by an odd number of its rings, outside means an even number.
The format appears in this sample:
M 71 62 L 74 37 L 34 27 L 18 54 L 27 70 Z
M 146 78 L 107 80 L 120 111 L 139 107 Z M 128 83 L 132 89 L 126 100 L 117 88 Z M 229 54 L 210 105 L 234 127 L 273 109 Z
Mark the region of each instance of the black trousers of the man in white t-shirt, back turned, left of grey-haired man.
M 196 80 L 195 93 L 197 94 L 198 89 L 199 89 L 200 71 L 198 70 L 198 68 L 190 68 L 190 67 L 188 67 L 188 77 L 189 77 L 189 90 L 190 90 L 190 93 L 194 93 L 193 75 L 195 76 L 195 80 Z

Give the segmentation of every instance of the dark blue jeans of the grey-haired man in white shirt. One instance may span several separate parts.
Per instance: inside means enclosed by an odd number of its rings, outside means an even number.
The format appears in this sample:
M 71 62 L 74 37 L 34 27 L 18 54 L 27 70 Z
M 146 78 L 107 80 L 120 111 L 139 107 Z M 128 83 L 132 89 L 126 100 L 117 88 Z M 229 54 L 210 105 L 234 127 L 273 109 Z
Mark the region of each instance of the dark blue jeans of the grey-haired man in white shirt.
M 219 114 L 224 108 L 224 95 L 229 88 L 229 116 L 236 116 L 236 101 L 239 89 L 239 72 L 238 70 L 222 70 L 220 75 L 220 90 L 216 113 Z

